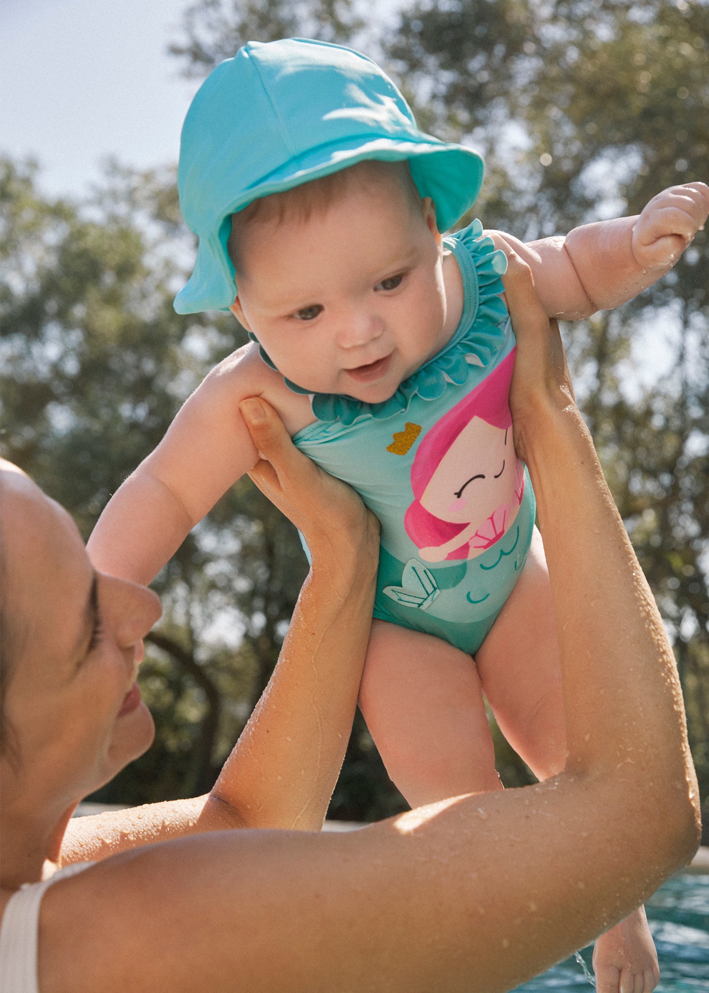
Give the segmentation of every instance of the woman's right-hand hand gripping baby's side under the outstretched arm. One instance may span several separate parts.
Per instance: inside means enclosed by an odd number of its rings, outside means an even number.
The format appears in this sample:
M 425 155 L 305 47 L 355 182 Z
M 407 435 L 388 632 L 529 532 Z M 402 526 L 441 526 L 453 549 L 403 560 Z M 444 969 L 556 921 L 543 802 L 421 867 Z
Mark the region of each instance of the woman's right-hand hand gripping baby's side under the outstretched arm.
M 559 326 L 539 303 L 529 266 L 511 249 L 502 281 L 517 340 L 509 389 L 514 447 L 526 462 L 529 427 L 545 410 L 575 407 L 576 401 Z

